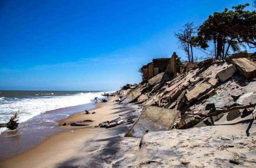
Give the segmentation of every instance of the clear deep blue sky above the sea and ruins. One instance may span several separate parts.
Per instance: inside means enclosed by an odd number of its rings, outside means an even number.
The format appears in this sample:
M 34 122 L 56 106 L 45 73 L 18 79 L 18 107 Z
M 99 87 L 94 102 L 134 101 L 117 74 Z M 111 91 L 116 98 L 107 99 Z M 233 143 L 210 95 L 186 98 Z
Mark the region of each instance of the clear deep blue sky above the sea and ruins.
M 0 0 L 0 90 L 118 90 L 174 32 L 253 0 Z M 250 6 L 248 10 L 252 10 Z M 254 50 L 248 50 L 254 51 Z M 198 52 L 200 54 L 200 52 Z

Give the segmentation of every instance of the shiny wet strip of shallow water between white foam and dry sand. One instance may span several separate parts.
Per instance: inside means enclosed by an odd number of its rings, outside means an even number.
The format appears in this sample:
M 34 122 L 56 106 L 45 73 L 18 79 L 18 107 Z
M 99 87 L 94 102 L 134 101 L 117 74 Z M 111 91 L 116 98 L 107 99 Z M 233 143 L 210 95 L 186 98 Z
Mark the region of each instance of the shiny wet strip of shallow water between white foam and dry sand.
M 64 131 L 59 129 L 59 121 L 66 119 L 84 109 L 95 109 L 95 103 L 87 103 L 46 111 L 20 123 L 18 129 L 2 132 L 0 135 L 0 161 L 22 154 L 39 145 L 47 137 Z M 49 119 L 51 122 L 46 121 Z

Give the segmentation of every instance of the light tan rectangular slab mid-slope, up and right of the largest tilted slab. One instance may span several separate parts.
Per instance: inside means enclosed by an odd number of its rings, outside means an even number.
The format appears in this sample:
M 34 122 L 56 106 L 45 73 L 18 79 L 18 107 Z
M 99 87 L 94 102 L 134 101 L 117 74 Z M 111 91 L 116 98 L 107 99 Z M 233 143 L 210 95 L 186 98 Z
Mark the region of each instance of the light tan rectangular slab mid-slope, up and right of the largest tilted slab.
M 206 93 L 207 91 L 209 91 L 210 89 L 211 89 L 210 84 L 201 83 L 200 85 L 195 87 L 193 90 L 191 90 L 189 93 L 185 94 L 185 96 L 189 102 L 192 102 L 198 97 L 200 97 L 201 95 L 203 95 L 204 93 Z

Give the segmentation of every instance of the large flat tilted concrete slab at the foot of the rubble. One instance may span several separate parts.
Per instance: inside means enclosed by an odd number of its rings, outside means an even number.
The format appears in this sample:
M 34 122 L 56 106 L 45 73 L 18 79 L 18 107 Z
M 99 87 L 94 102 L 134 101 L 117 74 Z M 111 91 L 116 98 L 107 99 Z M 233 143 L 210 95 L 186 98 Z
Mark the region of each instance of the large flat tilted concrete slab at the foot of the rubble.
M 179 113 L 178 110 L 146 106 L 125 137 L 142 138 L 148 132 L 171 130 Z

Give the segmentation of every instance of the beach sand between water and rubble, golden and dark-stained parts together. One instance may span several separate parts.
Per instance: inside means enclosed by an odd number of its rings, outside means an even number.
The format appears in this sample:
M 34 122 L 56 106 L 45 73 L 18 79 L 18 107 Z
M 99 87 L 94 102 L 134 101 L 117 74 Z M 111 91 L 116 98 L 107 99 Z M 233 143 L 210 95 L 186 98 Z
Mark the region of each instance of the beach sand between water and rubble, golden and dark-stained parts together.
M 41 144 L 17 156 L 13 156 L 0 162 L 0 167 L 4 168 L 51 168 L 51 167 L 97 167 L 104 165 L 108 157 L 111 157 L 112 150 L 104 150 L 113 143 L 119 142 L 130 125 L 120 125 L 114 128 L 95 128 L 103 121 L 113 120 L 121 114 L 121 118 L 134 115 L 131 105 L 118 105 L 110 98 L 107 103 L 97 103 L 96 109 L 90 113 L 77 113 L 59 121 L 72 123 L 87 119 L 95 120 L 87 122 L 89 126 L 59 126 L 66 129 L 63 132 L 49 136 Z M 138 114 L 138 113 L 137 113 Z M 71 130 L 73 132 L 71 133 Z M 104 152 L 110 152 L 104 153 Z

